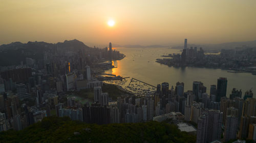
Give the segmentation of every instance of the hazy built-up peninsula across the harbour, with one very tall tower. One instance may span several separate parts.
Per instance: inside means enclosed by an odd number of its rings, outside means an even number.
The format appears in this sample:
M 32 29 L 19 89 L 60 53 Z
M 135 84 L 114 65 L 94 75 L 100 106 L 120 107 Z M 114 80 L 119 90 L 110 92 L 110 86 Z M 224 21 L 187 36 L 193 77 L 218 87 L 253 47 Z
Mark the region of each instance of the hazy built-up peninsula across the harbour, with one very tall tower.
M 185 41 L 181 54 L 170 53 L 162 55 L 164 58 L 156 59 L 156 62 L 174 67 L 219 68 L 228 69 L 230 70 L 228 72 L 235 73 L 249 72 L 253 75 L 256 73 L 253 68 L 256 66 L 256 47 L 242 46 L 233 49 L 221 49 L 220 54 L 213 54 L 205 53 L 202 47 L 199 50 L 197 47 L 187 48 L 186 44 Z

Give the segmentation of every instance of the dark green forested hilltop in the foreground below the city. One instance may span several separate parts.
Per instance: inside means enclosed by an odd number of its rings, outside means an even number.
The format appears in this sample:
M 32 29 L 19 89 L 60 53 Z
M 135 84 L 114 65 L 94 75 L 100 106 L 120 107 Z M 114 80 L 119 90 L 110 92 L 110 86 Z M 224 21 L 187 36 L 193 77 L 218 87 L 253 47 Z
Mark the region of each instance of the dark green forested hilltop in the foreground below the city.
M 0 133 L 0 142 L 196 142 L 196 136 L 159 122 L 96 125 L 48 117 L 22 131 Z

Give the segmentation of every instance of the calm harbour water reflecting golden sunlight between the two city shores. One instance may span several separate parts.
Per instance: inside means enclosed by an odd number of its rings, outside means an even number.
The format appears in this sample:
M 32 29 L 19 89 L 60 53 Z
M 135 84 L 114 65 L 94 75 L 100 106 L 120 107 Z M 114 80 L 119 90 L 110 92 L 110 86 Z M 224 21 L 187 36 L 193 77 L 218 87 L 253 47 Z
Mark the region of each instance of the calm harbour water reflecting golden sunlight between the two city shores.
M 168 82 L 169 87 L 176 86 L 176 82 L 184 82 L 184 91 L 192 90 L 193 81 L 201 81 L 207 87 L 209 94 L 210 85 L 216 84 L 219 77 L 227 77 L 227 97 L 232 88 L 242 89 L 242 97 L 245 91 L 252 89 L 256 91 L 256 75 L 251 73 L 228 73 L 222 69 L 208 68 L 175 68 L 156 63 L 156 59 L 162 59 L 161 55 L 169 53 L 181 53 L 178 49 L 170 48 L 113 48 L 126 57 L 120 61 L 112 61 L 117 68 L 105 71 L 105 73 L 116 74 L 123 77 L 133 77 L 141 81 L 157 85 Z M 256 92 L 254 92 L 254 97 Z

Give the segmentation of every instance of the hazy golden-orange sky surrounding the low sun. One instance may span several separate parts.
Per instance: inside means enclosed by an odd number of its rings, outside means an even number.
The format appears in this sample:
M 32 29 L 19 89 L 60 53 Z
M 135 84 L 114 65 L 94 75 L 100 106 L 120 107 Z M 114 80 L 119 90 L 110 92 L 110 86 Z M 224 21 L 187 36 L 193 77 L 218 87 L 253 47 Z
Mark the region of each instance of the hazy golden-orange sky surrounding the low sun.
M 184 38 L 196 44 L 256 40 L 256 1 L 0 0 L 0 45 L 66 39 L 90 46 L 173 45 Z

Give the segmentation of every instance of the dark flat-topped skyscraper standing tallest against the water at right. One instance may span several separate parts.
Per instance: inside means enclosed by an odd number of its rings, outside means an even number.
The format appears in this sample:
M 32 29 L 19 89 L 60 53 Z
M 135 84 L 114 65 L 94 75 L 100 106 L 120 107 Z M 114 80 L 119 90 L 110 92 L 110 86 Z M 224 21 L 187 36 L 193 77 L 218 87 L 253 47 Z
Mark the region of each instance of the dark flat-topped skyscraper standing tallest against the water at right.
M 220 77 L 217 82 L 217 102 L 221 101 L 221 97 L 226 97 L 227 78 Z

